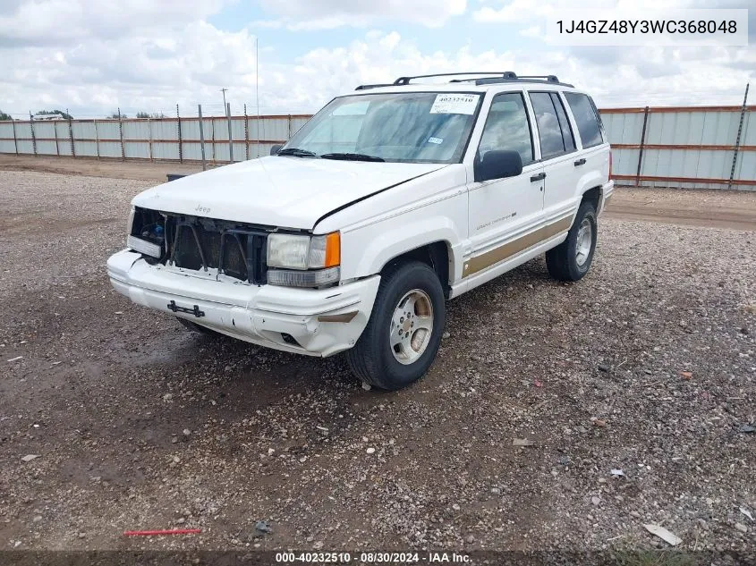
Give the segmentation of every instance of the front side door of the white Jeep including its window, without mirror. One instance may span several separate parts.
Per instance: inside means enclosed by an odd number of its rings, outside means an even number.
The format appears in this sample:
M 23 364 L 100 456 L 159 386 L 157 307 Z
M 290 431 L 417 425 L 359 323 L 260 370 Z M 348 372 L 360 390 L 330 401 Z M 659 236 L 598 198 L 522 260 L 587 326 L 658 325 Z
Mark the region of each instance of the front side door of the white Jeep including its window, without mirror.
M 536 160 L 522 91 L 497 94 L 491 101 L 476 161 L 495 149 L 517 151 L 522 174 L 468 184 L 472 254 L 464 265 L 465 277 L 530 247 L 528 232 L 538 228 L 543 213 L 543 165 Z

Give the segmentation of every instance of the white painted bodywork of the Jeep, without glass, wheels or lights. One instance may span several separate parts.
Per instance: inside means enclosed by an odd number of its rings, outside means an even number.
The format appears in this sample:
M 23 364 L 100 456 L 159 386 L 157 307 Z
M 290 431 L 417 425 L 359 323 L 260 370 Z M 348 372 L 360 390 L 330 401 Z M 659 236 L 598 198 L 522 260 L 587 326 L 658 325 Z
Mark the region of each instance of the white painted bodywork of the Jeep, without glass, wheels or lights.
M 565 104 L 577 150 L 541 161 L 533 128 L 536 162 L 508 179 L 474 181 L 474 156 L 491 98 L 530 87 L 497 84 L 413 85 L 371 89 L 480 91 L 480 114 L 462 163 L 454 165 L 370 163 L 271 156 L 227 165 L 147 190 L 132 205 L 183 215 L 248 224 L 341 234 L 341 279 L 336 287 L 293 289 L 231 283 L 212 272 L 149 265 L 124 250 L 108 260 L 116 291 L 133 302 L 175 314 L 171 300 L 197 305 L 202 318 L 178 313 L 200 325 L 242 340 L 286 351 L 328 356 L 354 345 L 367 325 L 380 281 L 393 258 L 430 243 L 448 253 L 453 298 L 521 265 L 565 240 L 583 194 L 599 188 L 599 212 L 614 188 L 608 181 L 608 144 L 583 150 L 573 114 Z M 533 90 L 570 90 L 539 83 Z M 577 92 L 577 91 L 575 91 Z M 530 102 L 527 112 L 532 120 Z M 575 166 L 578 159 L 586 163 Z M 544 180 L 531 176 L 547 173 Z M 344 316 L 347 322 L 324 322 Z M 290 334 L 298 342 L 285 342 Z

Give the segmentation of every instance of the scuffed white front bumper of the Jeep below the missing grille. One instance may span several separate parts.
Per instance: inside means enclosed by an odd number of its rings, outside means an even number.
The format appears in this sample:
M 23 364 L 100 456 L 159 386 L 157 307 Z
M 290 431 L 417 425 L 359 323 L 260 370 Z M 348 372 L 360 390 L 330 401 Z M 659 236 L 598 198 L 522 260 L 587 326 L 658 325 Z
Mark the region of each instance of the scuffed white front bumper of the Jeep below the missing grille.
M 183 317 L 246 342 L 310 356 L 352 348 L 368 324 L 380 276 L 327 289 L 293 289 L 217 281 L 162 265 L 124 249 L 107 260 L 115 291 L 138 305 Z M 170 307 L 204 313 L 174 312 Z M 288 342 L 284 334 L 293 338 Z

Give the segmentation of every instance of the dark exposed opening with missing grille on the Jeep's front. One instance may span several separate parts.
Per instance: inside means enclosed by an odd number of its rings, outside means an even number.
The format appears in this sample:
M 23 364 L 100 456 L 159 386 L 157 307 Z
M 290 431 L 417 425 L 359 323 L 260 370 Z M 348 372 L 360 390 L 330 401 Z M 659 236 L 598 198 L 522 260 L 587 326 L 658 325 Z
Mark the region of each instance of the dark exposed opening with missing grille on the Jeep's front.
M 151 265 L 255 285 L 268 283 L 266 254 L 272 227 L 141 207 L 133 209 L 130 224 L 127 247 Z

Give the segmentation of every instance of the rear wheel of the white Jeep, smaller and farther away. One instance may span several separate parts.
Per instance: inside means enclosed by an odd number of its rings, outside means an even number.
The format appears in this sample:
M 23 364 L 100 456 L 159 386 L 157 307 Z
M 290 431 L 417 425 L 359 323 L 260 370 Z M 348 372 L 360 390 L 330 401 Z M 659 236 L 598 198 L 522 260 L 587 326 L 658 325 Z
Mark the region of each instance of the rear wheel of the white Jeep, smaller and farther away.
M 559 281 L 579 281 L 588 273 L 596 249 L 596 208 L 582 202 L 567 239 L 546 252 L 548 273 Z

